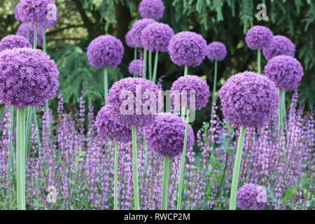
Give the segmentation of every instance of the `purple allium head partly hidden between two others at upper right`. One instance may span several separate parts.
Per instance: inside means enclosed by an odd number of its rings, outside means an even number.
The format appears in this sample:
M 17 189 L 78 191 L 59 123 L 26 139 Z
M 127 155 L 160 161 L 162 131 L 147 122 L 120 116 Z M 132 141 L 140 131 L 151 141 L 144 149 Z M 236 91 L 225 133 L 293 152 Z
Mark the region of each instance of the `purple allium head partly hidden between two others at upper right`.
M 295 45 L 286 36 L 276 35 L 272 38 L 272 43 L 269 48 L 264 48 L 262 53 L 267 61 L 278 55 L 288 55 L 294 57 Z

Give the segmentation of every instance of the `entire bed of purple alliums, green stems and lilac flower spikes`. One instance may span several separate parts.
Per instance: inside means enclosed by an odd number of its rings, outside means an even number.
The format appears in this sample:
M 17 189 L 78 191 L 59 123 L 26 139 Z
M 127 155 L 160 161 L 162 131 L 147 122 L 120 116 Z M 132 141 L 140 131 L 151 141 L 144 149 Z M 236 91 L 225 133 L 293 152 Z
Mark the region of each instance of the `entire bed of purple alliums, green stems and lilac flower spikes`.
M 157 21 L 163 1 L 143 0 L 142 19 L 125 36 L 134 48 L 130 77 L 109 86 L 125 49 L 115 36 L 94 38 L 86 54 L 104 73 L 104 106 L 94 113 L 83 85 L 78 109 L 66 112 L 46 53 L 56 7 L 20 0 L 22 25 L 0 41 L 0 209 L 314 209 L 315 109 L 297 104 L 304 70 L 286 36 L 248 29 L 257 71 L 231 74 L 216 95 L 225 44 L 174 34 Z M 159 53 L 182 66 L 169 91 L 162 76 L 156 82 Z M 189 72 L 204 59 L 214 62 L 212 87 Z M 207 104 L 209 116 L 194 132 L 195 112 Z

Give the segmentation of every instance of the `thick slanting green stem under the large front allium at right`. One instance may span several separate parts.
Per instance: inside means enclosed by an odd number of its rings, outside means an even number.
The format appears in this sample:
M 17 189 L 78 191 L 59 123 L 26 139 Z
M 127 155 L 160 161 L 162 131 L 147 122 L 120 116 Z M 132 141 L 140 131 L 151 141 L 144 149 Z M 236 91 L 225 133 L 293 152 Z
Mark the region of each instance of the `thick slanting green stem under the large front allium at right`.
M 239 183 L 239 167 L 241 167 L 241 153 L 243 151 L 244 137 L 246 132 L 246 126 L 241 125 L 241 130 L 239 132 L 239 142 L 237 144 L 237 154 L 235 157 L 232 186 L 230 192 L 230 210 L 235 210 L 236 200 L 237 200 L 237 185 Z

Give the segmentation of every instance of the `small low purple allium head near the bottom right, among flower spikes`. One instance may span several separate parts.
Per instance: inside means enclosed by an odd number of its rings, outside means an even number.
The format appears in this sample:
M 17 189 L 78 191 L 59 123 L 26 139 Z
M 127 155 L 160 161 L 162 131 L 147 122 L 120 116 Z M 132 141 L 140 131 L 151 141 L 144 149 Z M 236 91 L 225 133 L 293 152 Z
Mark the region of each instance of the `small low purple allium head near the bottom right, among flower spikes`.
M 246 183 L 237 190 L 237 205 L 241 209 L 263 209 L 267 203 L 267 191 L 254 183 Z

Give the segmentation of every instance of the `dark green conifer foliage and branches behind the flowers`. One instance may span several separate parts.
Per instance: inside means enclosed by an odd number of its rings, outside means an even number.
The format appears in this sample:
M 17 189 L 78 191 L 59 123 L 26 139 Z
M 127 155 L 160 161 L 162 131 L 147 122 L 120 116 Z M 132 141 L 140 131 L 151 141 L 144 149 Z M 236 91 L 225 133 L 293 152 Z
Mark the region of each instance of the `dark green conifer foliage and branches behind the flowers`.
M 13 13 L 17 3 L 18 0 L 0 0 L 0 38 L 15 34 L 20 25 Z M 104 104 L 102 70 L 90 66 L 85 54 L 87 46 L 102 34 L 112 34 L 125 45 L 127 30 L 141 18 L 138 13 L 140 0 L 57 0 L 56 3 L 60 16 L 57 25 L 48 29 L 47 39 L 48 53 L 60 71 L 59 91 L 71 110 L 78 104 L 84 84 L 86 96 L 94 102 L 97 111 Z M 296 45 L 295 57 L 304 67 L 304 77 L 299 86 L 300 101 L 307 104 L 308 109 L 314 108 L 314 1 L 164 0 L 164 3 L 165 13 L 160 22 L 169 24 L 175 33 L 195 31 L 202 34 L 208 43 L 221 41 L 227 46 L 228 56 L 218 63 L 218 87 L 234 73 L 256 70 L 256 52 L 248 49 L 244 41 L 246 31 L 253 25 L 265 25 L 275 35 L 288 36 Z M 267 6 L 266 21 L 256 19 L 258 3 Z M 125 45 L 123 63 L 109 71 L 110 85 L 129 76 L 127 66 L 132 59 L 133 50 Z M 265 63 L 262 59 L 262 68 Z M 190 68 L 189 73 L 204 76 L 212 87 L 214 64 L 208 59 L 201 66 Z M 168 90 L 181 75 L 183 68 L 173 64 L 167 53 L 162 53 L 158 77 L 164 76 L 164 89 Z M 287 99 L 291 95 L 289 92 Z M 197 113 L 196 127 L 209 120 L 209 111 L 210 104 Z

